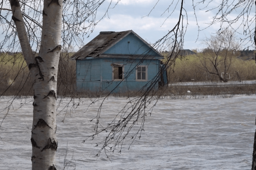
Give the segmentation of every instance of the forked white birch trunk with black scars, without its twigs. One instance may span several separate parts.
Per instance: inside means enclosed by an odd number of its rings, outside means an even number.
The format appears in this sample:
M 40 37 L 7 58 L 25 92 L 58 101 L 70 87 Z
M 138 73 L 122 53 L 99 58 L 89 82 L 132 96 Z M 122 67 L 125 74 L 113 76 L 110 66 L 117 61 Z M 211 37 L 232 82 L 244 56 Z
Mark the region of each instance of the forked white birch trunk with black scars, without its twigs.
M 56 85 L 61 50 L 62 0 L 45 0 L 39 56 L 29 44 L 18 0 L 9 0 L 22 53 L 34 80 L 32 170 L 54 170 L 56 139 Z

